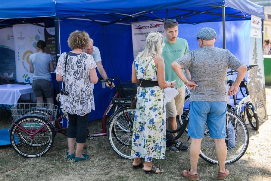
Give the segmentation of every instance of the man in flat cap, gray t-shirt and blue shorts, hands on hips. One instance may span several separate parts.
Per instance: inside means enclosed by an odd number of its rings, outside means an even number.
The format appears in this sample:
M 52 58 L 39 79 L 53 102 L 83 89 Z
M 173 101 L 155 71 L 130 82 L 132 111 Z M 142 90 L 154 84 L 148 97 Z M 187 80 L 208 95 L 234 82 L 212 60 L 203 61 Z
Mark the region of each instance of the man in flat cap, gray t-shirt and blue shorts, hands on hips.
M 225 169 L 226 74 L 228 68 L 238 72 L 235 83 L 228 92 L 232 96 L 237 93 L 247 67 L 229 50 L 214 47 L 216 32 L 213 29 L 202 28 L 197 33 L 197 40 L 201 49 L 188 52 L 171 64 L 179 78 L 191 89 L 188 130 L 188 136 L 191 137 L 191 169 L 184 170 L 182 174 L 190 179 L 198 178 L 198 157 L 207 122 L 210 137 L 215 142 L 219 164 L 218 179 L 225 179 L 229 175 L 229 170 Z M 183 68 L 190 71 L 191 80 L 185 77 Z

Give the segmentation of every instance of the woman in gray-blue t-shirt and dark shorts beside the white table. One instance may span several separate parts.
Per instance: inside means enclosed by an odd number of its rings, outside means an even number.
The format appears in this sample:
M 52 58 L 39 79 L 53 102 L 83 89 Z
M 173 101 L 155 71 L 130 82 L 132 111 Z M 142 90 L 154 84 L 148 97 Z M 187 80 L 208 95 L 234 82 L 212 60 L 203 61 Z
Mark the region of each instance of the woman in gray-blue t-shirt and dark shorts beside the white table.
M 42 40 L 37 42 L 37 53 L 29 56 L 29 69 L 33 73 L 32 89 L 37 103 L 43 103 L 43 96 L 47 103 L 54 104 L 54 87 L 50 72 L 55 71 L 53 56 L 45 53 L 46 43 Z M 48 109 L 51 109 L 50 105 Z

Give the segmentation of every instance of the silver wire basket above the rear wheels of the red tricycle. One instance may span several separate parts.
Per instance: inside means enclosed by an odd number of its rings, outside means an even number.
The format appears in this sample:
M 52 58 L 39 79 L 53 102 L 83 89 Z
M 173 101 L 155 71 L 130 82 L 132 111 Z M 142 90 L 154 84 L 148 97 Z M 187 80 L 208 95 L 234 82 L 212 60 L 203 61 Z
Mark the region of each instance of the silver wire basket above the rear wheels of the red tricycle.
M 27 115 L 36 114 L 55 121 L 58 106 L 50 103 L 17 103 L 10 108 L 13 121 L 17 118 Z

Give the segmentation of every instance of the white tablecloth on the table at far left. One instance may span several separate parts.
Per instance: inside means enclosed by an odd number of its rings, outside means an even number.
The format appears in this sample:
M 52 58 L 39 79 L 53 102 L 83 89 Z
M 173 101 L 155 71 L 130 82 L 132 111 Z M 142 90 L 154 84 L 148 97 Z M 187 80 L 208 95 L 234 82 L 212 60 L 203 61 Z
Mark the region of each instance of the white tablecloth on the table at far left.
M 14 105 L 18 102 L 22 94 L 33 93 L 31 85 L 22 84 L 8 84 L 0 85 L 0 104 Z

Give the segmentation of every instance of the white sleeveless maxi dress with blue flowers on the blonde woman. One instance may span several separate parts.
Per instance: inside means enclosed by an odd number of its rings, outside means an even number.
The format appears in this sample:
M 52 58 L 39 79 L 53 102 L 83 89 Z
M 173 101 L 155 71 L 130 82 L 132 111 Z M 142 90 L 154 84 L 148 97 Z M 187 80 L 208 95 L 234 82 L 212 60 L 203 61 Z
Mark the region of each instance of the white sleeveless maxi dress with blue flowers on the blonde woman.
M 136 75 L 142 79 L 151 56 L 134 61 Z M 148 65 L 145 80 L 157 81 L 157 67 L 152 59 Z M 164 90 L 159 86 L 141 87 L 137 96 L 133 125 L 132 157 L 165 159 L 166 151 L 166 113 Z

